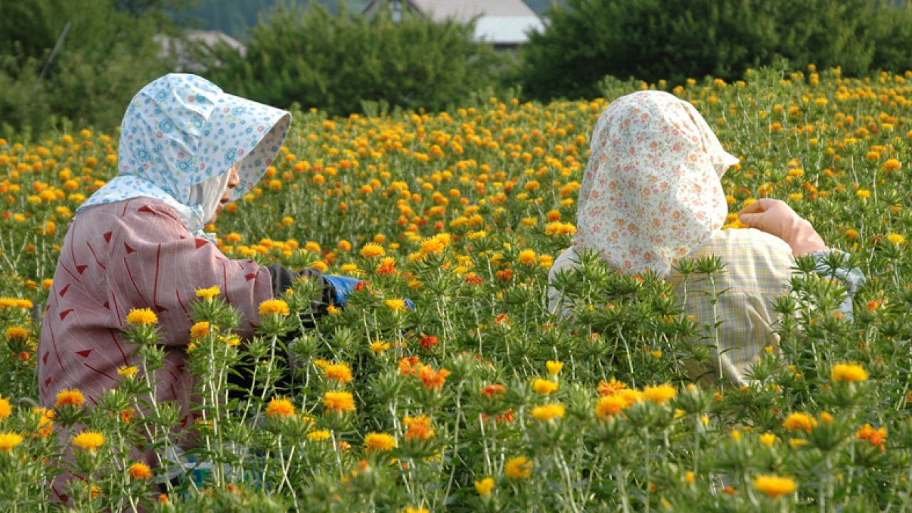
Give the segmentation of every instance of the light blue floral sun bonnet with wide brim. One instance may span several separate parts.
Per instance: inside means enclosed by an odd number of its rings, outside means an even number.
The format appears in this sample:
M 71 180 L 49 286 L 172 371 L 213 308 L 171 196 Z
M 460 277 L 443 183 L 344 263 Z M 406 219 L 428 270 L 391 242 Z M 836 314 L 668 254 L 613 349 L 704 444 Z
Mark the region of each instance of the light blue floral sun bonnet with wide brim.
M 235 201 L 254 189 L 282 147 L 291 114 L 223 92 L 209 80 L 172 73 L 140 90 L 120 124 L 120 174 L 79 206 L 140 196 L 171 206 L 202 233 L 235 164 Z

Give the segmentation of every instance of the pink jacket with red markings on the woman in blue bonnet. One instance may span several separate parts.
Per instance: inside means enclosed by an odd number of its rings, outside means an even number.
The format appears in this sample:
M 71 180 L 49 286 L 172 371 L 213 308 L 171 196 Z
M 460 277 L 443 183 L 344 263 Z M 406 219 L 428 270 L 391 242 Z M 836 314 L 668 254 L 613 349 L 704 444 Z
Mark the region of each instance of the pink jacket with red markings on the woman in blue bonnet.
M 38 343 L 41 405 L 52 407 L 64 389 L 85 394 L 89 407 L 97 404 L 123 379 L 117 370 L 138 361 L 120 334 L 127 314 L 149 308 L 169 351 L 158 375 L 158 399 L 180 403 L 183 425 L 190 424 L 195 381 L 184 365 L 192 326 L 187 314 L 195 291 L 212 286 L 243 314 L 242 336 L 259 320 L 258 305 L 273 297 L 266 267 L 225 257 L 159 200 L 140 197 L 85 210 L 64 238 L 47 298 Z

